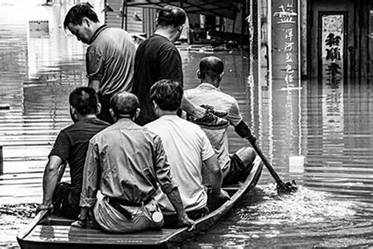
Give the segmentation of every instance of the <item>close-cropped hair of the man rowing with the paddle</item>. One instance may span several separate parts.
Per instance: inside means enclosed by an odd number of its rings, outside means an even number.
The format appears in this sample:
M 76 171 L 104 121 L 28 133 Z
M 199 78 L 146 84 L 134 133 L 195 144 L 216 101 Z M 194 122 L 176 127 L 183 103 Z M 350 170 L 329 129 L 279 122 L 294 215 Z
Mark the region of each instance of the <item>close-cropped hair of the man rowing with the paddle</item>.
M 208 76 L 212 80 L 216 80 L 223 71 L 223 61 L 218 57 L 204 57 L 199 61 L 199 74 L 201 79 Z

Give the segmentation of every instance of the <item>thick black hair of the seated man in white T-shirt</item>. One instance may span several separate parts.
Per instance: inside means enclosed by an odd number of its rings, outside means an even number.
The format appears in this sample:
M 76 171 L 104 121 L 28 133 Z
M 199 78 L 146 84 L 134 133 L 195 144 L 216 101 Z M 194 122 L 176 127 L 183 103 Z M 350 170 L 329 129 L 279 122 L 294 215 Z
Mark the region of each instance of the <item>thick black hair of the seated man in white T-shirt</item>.
M 150 99 L 164 111 L 176 111 L 183 98 L 183 87 L 179 82 L 160 80 L 150 88 Z

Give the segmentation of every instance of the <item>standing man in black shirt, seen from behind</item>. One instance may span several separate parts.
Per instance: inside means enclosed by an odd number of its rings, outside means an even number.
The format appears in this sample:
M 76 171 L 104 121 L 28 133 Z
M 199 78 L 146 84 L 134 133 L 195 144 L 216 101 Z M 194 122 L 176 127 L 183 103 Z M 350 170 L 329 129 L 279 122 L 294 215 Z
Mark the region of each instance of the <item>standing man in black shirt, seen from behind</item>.
M 157 119 L 149 96 L 150 88 L 154 83 L 167 79 L 177 81 L 183 86 L 182 58 L 174 42 L 179 40 L 186 18 L 187 14 L 182 8 L 176 6 L 162 8 L 158 13 L 156 31 L 141 42 L 136 50 L 132 92 L 140 101 L 141 113 L 135 121 L 139 125 Z M 183 99 L 182 109 L 194 116 L 197 124 L 205 124 L 213 128 L 228 125 L 225 120 L 212 115 L 213 112 L 193 106 L 185 99 Z

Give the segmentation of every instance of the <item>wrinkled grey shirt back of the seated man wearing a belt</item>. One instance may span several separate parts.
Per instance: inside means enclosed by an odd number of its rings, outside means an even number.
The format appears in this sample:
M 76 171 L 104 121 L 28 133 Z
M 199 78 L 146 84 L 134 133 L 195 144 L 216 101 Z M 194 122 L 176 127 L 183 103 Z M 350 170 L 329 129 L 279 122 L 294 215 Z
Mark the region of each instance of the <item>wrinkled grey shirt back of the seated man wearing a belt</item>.
M 156 163 L 163 165 L 165 163 L 161 161 L 166 160 L 165 156 L 159 155 L 163 148 L 159 149 L 157 139 L 160 140 L 154 133 L 127 119 L 121 119 L 93 136 L 90 146 L 95 148 L 95 154 L 87 158 L 86 165 L 91 167 L 95 156 L 99 158 L 101 193 L 131 202 L 151 198 L 157 189 L 157 178 L 162 181 L 160 174 L 155 172 Z M 86 184 L 86 189 L 90 184 L 95 183 Z

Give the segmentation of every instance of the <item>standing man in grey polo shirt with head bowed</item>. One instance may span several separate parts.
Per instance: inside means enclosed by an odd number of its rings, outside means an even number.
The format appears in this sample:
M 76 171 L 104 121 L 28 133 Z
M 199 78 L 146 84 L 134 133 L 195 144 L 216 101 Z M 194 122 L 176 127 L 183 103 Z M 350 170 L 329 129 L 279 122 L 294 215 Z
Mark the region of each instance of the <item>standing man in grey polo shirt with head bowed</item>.
M 68 11 L 64 28 L 89 45 L 86 52 L 88 86 L 98 94 L 101 104 L 98 118 L 113 124 L 109 113 L 111 96 L 132 90 L 136 47 L 131 36 L 123 29 L 102 25 L 88 3 L 77 4 Z

